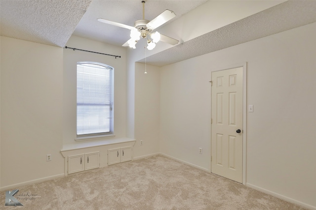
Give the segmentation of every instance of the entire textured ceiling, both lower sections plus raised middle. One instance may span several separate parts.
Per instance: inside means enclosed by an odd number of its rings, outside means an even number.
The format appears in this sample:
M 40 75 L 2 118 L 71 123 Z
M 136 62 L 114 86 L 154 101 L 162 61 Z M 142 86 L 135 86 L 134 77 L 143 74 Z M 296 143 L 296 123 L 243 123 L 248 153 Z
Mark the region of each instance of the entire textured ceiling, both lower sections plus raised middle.
M 145 19 L 152 20 L 165 9 L 175 11 L 177 19 L 205 1 L 147 0 Z M 2 36 L 59 47 L 72 34 L 117 46 L 129 38 L 128 30 L 97 18 L 133 26 L 142 19 L 141 0 L 0 0 Z M 289 0 L 159 52 L 148 57 L 147 63 L 163 66 L 313 22 L 315 0 Z

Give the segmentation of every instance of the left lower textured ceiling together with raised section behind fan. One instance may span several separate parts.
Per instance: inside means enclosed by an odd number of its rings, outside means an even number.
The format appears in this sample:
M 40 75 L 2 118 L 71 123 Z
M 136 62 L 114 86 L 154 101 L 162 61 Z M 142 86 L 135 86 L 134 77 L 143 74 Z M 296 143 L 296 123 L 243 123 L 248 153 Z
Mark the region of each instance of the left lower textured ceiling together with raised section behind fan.
M 146 0 L 145 19 L 152 20 L 170 9 L 176 11 L 174 21 L 204 2 Z M 0 35 L 65 47 L 74 34 L 121 46 L 129 39 L 129 30 L 96 19 L 134 26 L 142 16 L 141 0 L 0 0 Z

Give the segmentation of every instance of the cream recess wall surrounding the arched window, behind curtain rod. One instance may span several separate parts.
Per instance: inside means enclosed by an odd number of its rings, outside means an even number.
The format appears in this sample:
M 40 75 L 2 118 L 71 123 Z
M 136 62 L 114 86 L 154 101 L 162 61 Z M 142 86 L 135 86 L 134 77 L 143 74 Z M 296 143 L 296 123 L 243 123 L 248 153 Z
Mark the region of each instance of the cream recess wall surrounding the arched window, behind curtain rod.
M 101 54 L 64 48 L 63 144 L 76 144 L 77 116 L 77 62 L 93 61 L 114 68 L 114 134 L 126 136 L 126 49 L 98 41 L 71 36 L 67 47 L 121 56 L 115 58 Z

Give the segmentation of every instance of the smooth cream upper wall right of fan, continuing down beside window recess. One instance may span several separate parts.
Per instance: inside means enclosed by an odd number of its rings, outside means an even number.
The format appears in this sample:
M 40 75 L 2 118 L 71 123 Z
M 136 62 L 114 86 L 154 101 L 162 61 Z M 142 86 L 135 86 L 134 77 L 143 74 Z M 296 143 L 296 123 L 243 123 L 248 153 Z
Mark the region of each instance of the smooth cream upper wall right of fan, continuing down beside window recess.
M 225 0 L 225 1 L 207 1 L 201 6 L 181 16 L 180 18 L 158 28 L 158 31 L 164 35 L 180 40 L 180 43 L 196 38 L 202 34 L 212 30 L 219 29 L 230 23 L 234 23 L 242 18 L 253 15 L 257 12 L 263 11 L 273 7 L 284 0 Z M 227 11 L 223 13 L 220 11 Z M 210 24 L 210 20 L 216 20 Z M 172 29 L 172 30 L 170 30 Z M 176 29 L 176 30 L 174 30 Z M 135 120 L 137 113 L 135 113 L 135 62 L 145 58 L 144 46 L 146 40 L 141 39 L 136 44 L 136 49 L 127 50 L 127 107 L 126 107 L 126 136 L 135 138 Z M 157 54 L 163 50 L 173 47 L 170 44 L 159 42 L 155 49 L 147 51 L 147 57 Z M 158 115 L 158 114 L 157 114 Z

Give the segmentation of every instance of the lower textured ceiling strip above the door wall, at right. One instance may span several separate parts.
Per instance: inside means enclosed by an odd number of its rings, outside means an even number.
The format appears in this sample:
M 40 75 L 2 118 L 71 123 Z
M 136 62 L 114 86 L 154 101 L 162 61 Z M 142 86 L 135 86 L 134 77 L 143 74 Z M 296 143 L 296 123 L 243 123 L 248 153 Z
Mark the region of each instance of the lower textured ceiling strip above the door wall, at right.
M 316 1 L 285 1 L 147 57 L 146 62 L 164 66 L 314 22 L 316 22 Z M 145 59 L 139 62 L 145 62 Z

